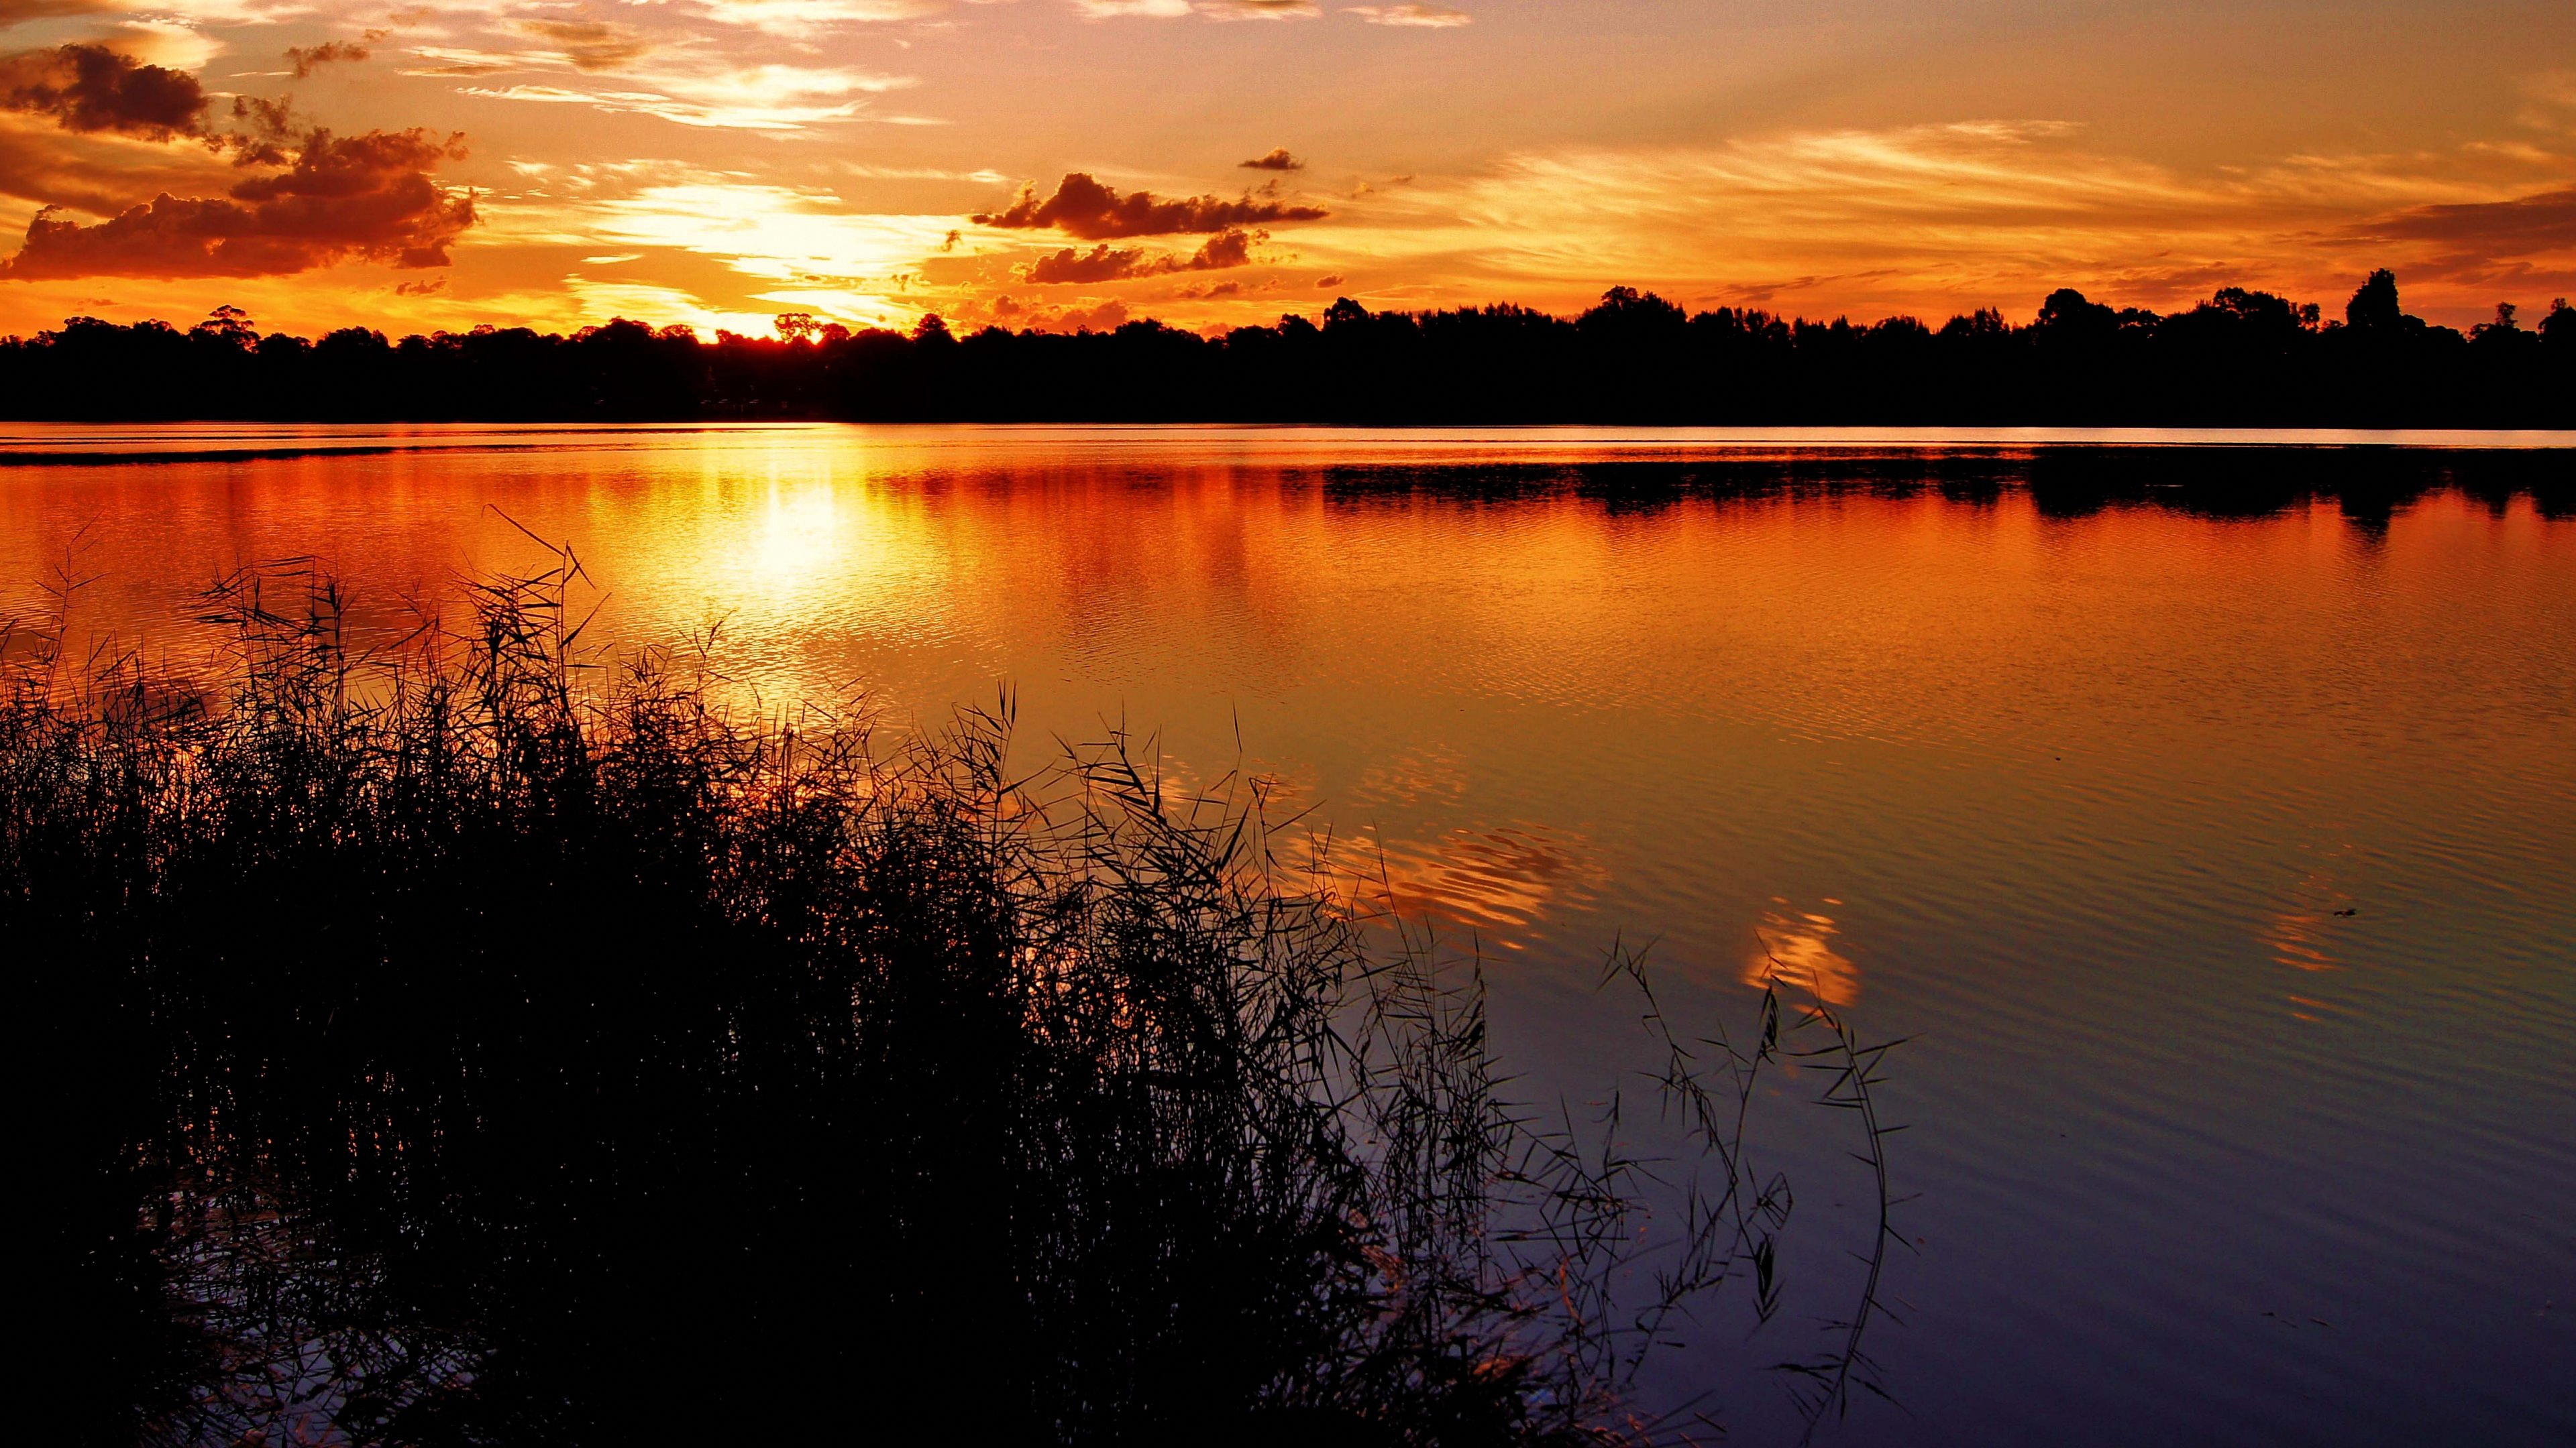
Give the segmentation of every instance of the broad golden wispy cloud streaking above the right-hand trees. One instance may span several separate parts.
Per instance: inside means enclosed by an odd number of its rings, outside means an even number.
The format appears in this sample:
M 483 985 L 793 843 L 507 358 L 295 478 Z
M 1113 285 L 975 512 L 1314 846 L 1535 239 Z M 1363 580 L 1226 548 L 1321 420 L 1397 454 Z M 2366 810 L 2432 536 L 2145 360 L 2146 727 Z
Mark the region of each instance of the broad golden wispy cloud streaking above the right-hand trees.
M 1960 121 L 1525 152 L 1370 196 L 1301 245 L 1345 271 L 1440 278 L 1458 299 L 1571 304 L 1656 278 L 1685 299 L 1940 312 L 2035 304 L 2071 281 L 2169 304 L 2210 276 L 2349 289 L 2354 268 L 2429 265 L 2442 227 L 2555 247 L 2550 193 L 2576 178 L 2550 152 L 2300 155 L 2195 175 L 2084 139 L 2058 121 Z

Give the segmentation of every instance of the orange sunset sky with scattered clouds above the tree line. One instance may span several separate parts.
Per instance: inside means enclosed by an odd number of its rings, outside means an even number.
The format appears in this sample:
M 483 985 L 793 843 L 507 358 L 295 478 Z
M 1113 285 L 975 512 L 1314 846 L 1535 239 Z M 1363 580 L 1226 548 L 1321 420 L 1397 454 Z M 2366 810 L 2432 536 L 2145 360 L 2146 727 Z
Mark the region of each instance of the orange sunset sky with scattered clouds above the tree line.
M 2576 294 L 2566 0 L 1458 5 L 0 0 L 0 332 Z

